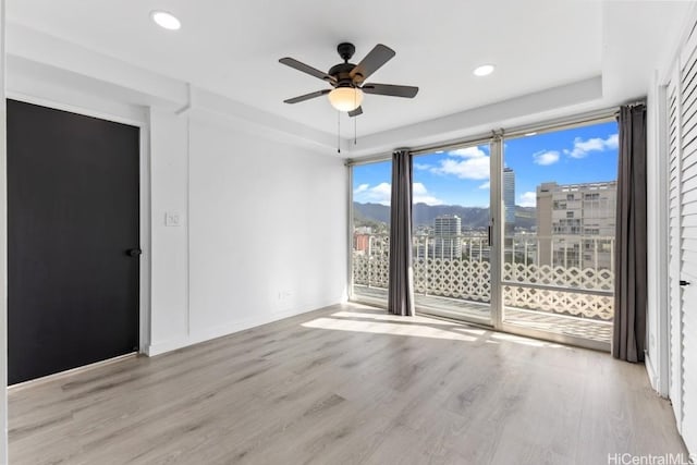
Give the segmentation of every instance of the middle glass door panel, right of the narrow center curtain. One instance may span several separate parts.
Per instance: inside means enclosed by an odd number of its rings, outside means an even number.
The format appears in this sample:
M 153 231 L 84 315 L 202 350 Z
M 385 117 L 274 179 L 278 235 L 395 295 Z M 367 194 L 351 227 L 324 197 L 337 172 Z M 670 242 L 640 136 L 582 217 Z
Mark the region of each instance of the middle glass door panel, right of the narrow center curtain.
M 414 291 L 419 310 L 492 323 L 489 144 L 414 157 Z

